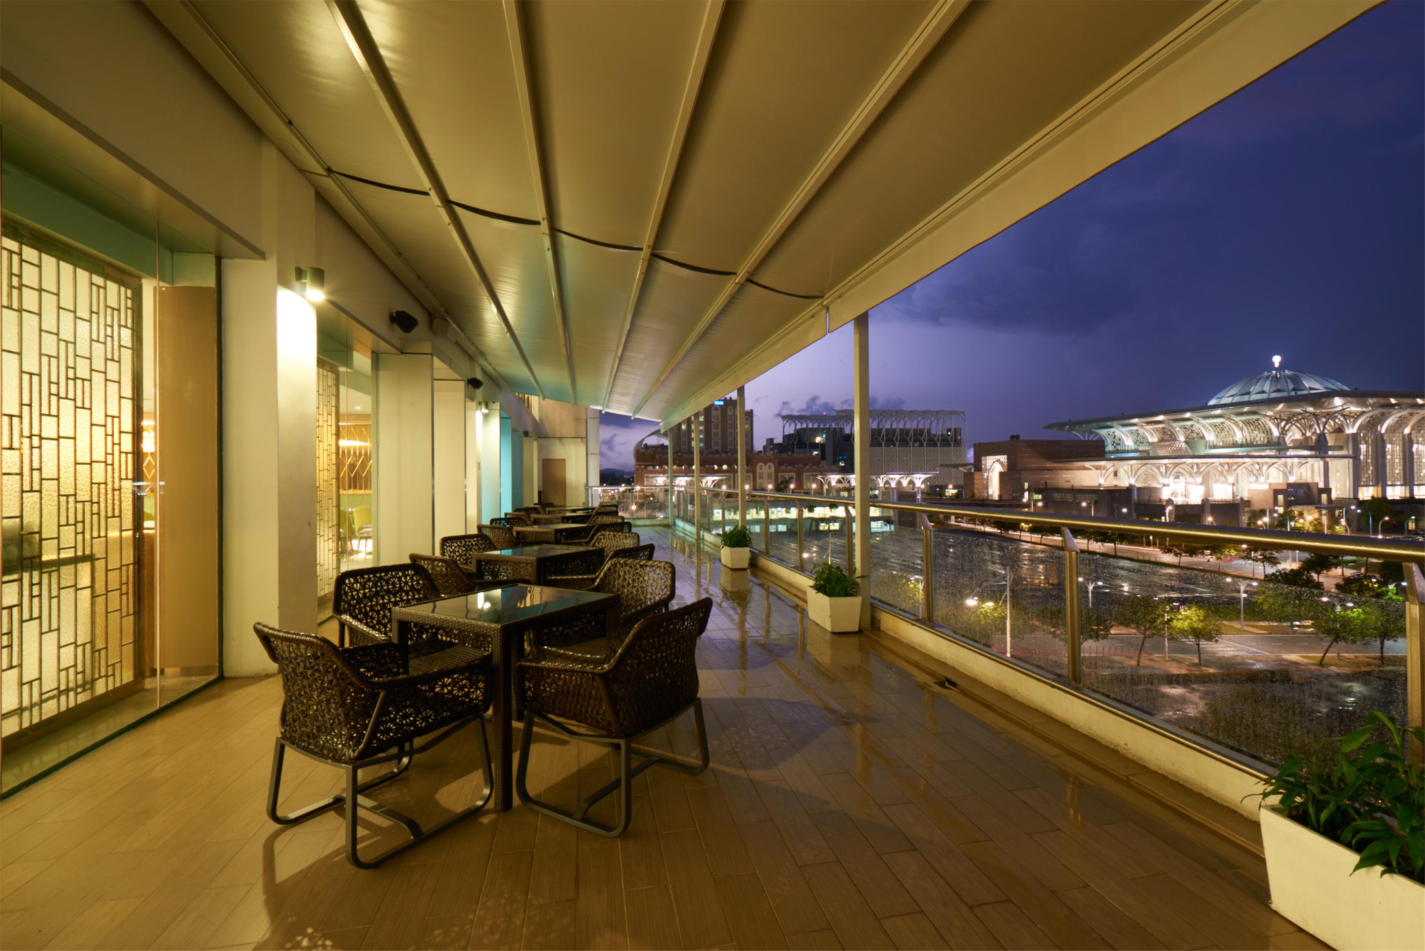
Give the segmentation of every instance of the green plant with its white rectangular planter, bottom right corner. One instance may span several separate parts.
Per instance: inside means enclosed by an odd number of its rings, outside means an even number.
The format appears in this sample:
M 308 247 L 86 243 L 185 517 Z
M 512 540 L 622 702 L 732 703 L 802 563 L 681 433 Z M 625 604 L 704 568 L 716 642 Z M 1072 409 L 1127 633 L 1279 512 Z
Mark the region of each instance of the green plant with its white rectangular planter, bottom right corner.
M 1418 948 L 1425 935 L 1421 727 L 1379 710 L 1367 726 L 1292 751 L 1261 793 L 1271 907 L 1342 951 Z

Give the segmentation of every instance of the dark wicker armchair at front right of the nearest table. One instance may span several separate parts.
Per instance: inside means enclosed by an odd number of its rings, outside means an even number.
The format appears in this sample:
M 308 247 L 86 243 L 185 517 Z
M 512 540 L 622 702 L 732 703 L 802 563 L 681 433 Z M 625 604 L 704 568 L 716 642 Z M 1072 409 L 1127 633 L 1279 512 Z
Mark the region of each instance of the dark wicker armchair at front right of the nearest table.
M 526 806 L 600 836 L 620 836 L 633 818 L 633 777 L 658 764 L 691 774 L 708 767 L 707 729 L 703 724 L 703 701 L 698 699 L 697 644 L 707 629 L 711 610 L 712 599 L 704 597 L 646 617 L 611 657 L 597 663 L 553 657 L 540 652 L 536 644 L 534 656 L 516 664 L 514 693 L 524 719 L 514 788 Z M 698 763 L 680 763 L 634 749 L 640 739 L 688 709 L 693 710 L 697 726 Z M 571 740 L 607 743 L 617 749 L 618 778 L 591 793 L 573 811 L 530 796 L 526 773 L 536 720 Z M 633 766 L 633 757 L 643 761 Z M 587 818 L 590 807 L 616 791 L 621 794 L 618 818 L 613 826 Z

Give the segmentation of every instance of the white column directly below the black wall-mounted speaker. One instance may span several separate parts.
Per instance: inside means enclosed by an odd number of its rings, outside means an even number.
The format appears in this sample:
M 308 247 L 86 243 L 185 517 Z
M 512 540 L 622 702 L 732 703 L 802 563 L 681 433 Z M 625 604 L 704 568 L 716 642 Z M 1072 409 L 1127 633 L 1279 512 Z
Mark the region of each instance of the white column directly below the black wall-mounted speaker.
M 433 368 L 429 354 L 372 358 L 372 520 L 376 565 L 435 550 Z

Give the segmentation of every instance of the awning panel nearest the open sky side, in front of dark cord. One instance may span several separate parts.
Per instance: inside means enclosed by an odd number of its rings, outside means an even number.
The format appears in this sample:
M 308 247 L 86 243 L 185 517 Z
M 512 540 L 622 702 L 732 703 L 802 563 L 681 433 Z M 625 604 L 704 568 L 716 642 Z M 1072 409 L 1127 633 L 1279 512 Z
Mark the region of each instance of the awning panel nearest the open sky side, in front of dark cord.
M 758 278 L 829 291 L 1201 7 L 1201 0 L 975 4 Z

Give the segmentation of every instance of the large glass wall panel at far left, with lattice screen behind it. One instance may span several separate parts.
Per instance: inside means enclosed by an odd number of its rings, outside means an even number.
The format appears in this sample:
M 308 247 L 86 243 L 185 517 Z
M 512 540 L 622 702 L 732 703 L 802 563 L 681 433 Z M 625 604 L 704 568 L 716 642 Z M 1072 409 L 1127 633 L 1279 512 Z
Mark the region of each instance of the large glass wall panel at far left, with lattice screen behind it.
M 3 137 L 11 791 L 218 673 L 218 314 L 211 254 L 10 127 Z M 175 376 L 165 356 L 178 355 Z

